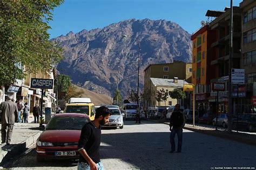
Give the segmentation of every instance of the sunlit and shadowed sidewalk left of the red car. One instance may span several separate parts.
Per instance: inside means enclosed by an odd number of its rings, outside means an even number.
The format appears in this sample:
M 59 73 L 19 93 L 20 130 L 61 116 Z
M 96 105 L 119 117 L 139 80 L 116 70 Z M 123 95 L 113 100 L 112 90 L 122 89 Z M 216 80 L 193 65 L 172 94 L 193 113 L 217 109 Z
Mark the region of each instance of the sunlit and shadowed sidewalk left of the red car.
M 15 123 L 12 130 L 10 145 L 1 144 L 0 164 L 4 164 L 10 158 L 23 153 L 26 148 L 36 142 L 42 129 L 39 129 L 38 123 L 33 123 L 33 115 L 29 116 L 29 123 Z M 0 124 L 1 128 L 1 124 Z

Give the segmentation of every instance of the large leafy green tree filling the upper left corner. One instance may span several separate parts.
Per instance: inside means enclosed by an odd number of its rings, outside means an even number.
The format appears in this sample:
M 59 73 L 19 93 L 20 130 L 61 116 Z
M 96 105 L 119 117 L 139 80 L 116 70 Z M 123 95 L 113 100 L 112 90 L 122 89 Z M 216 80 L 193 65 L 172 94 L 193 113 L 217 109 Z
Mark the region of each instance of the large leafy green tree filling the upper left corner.
M 25 73 L 50 70 L 62 49 L 50 41 L 48 25 L 63 0 L 0 1 L 0 86 L 23 79 Z M 21 63 L 25 70 L 19 69 Z

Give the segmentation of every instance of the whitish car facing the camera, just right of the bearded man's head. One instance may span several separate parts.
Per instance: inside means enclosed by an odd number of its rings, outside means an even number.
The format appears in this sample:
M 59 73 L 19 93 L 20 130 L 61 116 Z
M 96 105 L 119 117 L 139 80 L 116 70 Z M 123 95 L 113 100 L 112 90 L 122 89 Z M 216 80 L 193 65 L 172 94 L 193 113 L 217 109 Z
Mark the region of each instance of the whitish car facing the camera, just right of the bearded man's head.
M 111 107 L 107 107 L 111 110 L 111 116 L 109 118 L 109 122 L 107 122 L 105 125 L 103 125 L 103 127 L 119 127 L 119 129 L 123 129 L 124 128 L 124 121 L 123 121 L 123 116 L 120 112 L 120 110 L 116 107 L 111 108 Z

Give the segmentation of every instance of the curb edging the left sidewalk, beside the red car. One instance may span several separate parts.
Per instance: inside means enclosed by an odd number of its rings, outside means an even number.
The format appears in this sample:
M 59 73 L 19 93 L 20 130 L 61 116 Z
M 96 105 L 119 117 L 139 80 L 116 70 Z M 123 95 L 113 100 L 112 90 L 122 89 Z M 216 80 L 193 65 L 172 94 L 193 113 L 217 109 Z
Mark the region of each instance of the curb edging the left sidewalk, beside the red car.
M 10 158 L 16 157 L 17 155 L 23 153 L 26 148 L 30 147 L 33 143 L 36 142 L 41 133 L 42 132 L 37 132 L 35 135 L 29 137 L 25 141 L 22 141 L 22 143 L 14 144 L 15 146 L 11 146 L 10 148 L 7 148 L 5 151 L 3 151 L 2 154 L 0 154 L 0 165 L 8 162 Z

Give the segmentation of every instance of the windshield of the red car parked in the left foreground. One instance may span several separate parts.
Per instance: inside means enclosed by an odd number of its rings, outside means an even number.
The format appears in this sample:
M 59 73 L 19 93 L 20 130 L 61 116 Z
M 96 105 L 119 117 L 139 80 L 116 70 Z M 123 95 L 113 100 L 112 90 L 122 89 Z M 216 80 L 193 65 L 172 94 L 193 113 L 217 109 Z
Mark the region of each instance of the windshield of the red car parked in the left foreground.
M 45 130 L 82 130 L 89 122 L 86 117 L 52 117 Z

